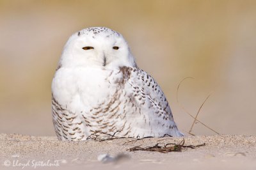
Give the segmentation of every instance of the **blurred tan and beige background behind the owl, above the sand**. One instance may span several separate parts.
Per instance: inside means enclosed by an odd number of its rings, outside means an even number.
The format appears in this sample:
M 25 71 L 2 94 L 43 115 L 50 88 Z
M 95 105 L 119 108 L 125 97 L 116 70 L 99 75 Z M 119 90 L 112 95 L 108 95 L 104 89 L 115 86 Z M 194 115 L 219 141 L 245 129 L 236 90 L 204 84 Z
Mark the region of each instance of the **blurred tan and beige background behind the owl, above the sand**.
M 51 81 L 84 27 L 122 33 L 187 134 L 256 135 L 256 1 L 0 1 L 0 133 L 55 135 Z M 176 93 L 179 82 L 179 103 Z M 214 134 L 196 123 L 193 133 Z

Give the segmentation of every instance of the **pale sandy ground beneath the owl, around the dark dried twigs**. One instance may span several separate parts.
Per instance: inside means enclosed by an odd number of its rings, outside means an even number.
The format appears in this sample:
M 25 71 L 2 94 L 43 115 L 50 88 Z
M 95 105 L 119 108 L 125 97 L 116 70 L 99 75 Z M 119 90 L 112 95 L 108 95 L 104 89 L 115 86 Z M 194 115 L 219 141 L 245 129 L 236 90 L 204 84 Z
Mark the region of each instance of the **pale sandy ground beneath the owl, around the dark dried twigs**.
M 180 143 L 182 138 L 60 142 L 56 137 L 0 134 L 0 169 L 256 169 L 256 136 L 197 135 L 184 140 L 185 145 L 205 146 L 158 153 L 129 148 Z M 113 159 L 98 160 L 107 153 Z

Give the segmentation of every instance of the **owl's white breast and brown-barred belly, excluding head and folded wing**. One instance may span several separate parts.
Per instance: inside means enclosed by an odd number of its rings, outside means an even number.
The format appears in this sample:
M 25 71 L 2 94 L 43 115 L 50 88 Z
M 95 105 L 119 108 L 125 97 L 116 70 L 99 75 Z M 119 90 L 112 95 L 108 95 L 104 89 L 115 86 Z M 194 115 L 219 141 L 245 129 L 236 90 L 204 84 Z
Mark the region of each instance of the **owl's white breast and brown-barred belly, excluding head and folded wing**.
M 60 68 L 52 81 L 52 114 L 60 139 L 86 139 L 122 127 L 118 100 L 124 78 L 117 69 Z

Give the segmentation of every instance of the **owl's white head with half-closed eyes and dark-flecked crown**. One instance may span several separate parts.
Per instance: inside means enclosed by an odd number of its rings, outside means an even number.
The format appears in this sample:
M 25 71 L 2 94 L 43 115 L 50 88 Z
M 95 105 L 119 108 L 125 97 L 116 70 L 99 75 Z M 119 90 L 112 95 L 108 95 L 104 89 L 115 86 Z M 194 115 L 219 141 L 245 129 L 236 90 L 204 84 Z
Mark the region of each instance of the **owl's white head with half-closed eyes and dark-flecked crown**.
M 70 36 L 59 64 L 106 69 L 136 66 L 123 36 L 106 27 L 89 27 Z

